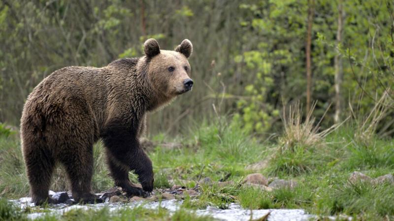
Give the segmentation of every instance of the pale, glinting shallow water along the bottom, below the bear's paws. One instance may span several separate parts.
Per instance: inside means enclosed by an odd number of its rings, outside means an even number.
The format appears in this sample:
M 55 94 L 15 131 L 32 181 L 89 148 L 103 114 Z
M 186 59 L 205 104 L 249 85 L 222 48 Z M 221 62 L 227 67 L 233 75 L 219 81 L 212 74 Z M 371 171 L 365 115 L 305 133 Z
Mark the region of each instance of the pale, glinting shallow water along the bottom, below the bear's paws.
M 33 207 L 34 204 L 31 202 L 31 198 L 24 197 L 19 200 L 11 200 L 12 202 L 19 205 L 21 208 Z M 137 206 L 142 206 L 147 209 L 157 209 L 163 207 L 170 212 L 175 212 L 179 206 L 182 204 L 181 200 L 165 200 L 162 202 L 133 202 L 133 203 L 100 203 L 95 205 L 72 205 L 58 204 L 54 205 L 49 209 L 49 213 L 53 214 L 63 214 L 72 209 L 102 209 L 103 207 L 108 207 L 110 211 L 115 212 L 123 208 L 134 208 Z M 48 209 L 46 209 L 48 211 Z M 197 210 L 198 215 L 209 215 L 215 219 L 223 221 L 249 221 L 262 218 L 268 213 L 268 221 L 307 221 L 310 218 L 315 217 L 314 215 L 307 214 L 301 209 L 270 209 L 270 210 L 245 210 L 239 204 L 231 203 L 229 208 L 226 210 L 218 209 L 216 207 L 208 206 L 204 210 Z M 38 217 L 45 215 L 42 213 L 31 213 L 28 218 L 34 220 Z

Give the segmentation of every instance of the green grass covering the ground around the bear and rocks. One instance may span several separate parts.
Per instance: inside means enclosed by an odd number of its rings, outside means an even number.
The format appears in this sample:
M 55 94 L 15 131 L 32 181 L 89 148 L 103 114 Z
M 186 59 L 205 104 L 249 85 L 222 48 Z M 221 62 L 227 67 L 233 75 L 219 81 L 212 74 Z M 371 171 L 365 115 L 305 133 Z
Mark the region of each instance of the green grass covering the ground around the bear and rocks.
M 321 216 L 346 214 L 356 220 L 393 218 L 393 185 L 350 184 L 347 180 L 353 171 L 361 171 L 372 178 L 393 173 L 394 140 L 375 137 L 368 143 L 359 142 L 354 137 L 356 129 L 349 123 L 316 141 L 318 143 L 305 145 L 293 141 L 291 148 L 281 148 L 277 140 L 262 142 L 235 125 L 222 128 L 218 125 L 223 124 L 204 123 L 191 129 L 189 135 L 183 138 L 155 137 L 156 140 L 176 142 L 183 146 L 168 149 L 159 145 L 149 153 L 154 165 L 155 188 L 168 188 L 173 183 L 191 188 L 206 177 L 214 183 L 202 185 L 197 199 L 186 197 L 175 214 L 170 215 L 164 209 L 134 208 L 113 215 L 103 209 L 99 212 L 70 211 L 62 215 L 60 220 L 203 220 L 207 218 L 195 216 L 195 209 L 206 206 L 226 209 L 232 202 L 240 203 L 247 209 L 301 208 Z M 99 143 L 94 152 L 93 188 L 97 192 L 113 185 L 105 165 L 103 148 Z M 269 165 L 260 171 L 245 169 L 252 163 L 266 159 L 269 159 Z M 0 197 L 9 199 L 28 194 L 24 170 L 17 135 L 0 137 Z M 271 192 L 241 187 L 242 179 L 254 172 L 266 177 L 293 179 L 298 185 L 294 189 Z M 66 185 L 62 176 L 59 169 L 54 175 L 54 190 L 64 190 Z M 130 173 L 130 177 L 136 182 L 135 175 Z M 232 181 L 233 184 L 219 186 L 218 181 Z M 0 208 L 2 220 L 7 216 L 11 220 L 24 219 L 27 213 L 32 212 L 7 213 L 10 205 L 4 202 Z M 43 218 L 55 219 L 58 218 L 51 215 Z

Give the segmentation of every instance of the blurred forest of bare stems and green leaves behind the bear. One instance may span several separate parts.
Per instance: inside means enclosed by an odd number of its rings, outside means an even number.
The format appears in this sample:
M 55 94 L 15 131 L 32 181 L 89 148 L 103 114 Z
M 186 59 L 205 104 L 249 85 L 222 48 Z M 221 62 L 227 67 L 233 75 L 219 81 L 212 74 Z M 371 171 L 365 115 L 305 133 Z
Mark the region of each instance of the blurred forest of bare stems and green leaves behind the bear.
M 266 136 L 300 101 L 322 127 L 386 109 L 392 136 L 391 0 L 0 0 L 0 122 L 18 126 L 27 96 L 66 66 L 102 67 L 143 55 L 156 38 L 188 38 L 195 87 L 150 114 L 151 134 L 180 133 L 226 116 Z

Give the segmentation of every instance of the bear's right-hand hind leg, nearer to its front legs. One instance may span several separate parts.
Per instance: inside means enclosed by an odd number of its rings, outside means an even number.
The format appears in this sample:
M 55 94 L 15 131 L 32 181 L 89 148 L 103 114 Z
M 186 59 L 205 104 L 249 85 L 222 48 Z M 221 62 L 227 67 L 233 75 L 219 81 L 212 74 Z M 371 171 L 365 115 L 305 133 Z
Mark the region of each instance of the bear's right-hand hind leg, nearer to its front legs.
M 101 203 L 102 200 L 91 189 L 93 176 L 93 147 L 74 147 L 75 152 L 63 157 L 71 193 L 75 202 Z

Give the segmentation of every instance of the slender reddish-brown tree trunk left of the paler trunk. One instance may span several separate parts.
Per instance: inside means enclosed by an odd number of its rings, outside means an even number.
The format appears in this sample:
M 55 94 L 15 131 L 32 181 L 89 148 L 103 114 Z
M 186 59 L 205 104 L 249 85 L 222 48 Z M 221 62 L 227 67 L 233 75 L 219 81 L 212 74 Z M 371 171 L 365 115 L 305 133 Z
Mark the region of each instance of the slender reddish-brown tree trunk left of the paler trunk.
M 315 0 L 308 0 L 308 30 L 306 36 L 306 112 L 311 108 L 312 68 L 311 68 L 311 41 L 312 23 Z

